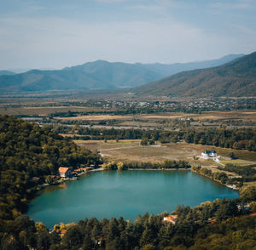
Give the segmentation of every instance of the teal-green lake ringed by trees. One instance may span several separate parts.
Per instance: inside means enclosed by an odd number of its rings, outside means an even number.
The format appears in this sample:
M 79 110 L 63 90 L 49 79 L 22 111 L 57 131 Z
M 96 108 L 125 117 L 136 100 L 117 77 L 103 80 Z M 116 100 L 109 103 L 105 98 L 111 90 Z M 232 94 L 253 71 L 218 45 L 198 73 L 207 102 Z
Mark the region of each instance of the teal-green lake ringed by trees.
M 49 228 L 93 217 L 122 216 L 133 221 L 146 212 L 172 212 L 181 204 L 195 207 L 217 198 L 238 197 L 237 191 L 190 171 L 103 171 L 65 186 L 45 189 L 32 201 L 27 215 Z

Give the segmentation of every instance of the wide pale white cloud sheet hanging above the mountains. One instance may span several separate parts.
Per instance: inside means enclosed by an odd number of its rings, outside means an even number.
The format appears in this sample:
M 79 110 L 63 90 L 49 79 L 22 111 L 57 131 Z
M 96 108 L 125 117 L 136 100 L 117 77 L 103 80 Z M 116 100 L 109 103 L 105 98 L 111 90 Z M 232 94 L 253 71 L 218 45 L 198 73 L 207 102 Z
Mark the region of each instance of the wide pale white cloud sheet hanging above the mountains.
M 89 24 L 61 18 L 2 18 L 0 27 L 0 68 L 60 68 L 99 59 L 166 63 L 205 60 L 245 53 L 239 50 L 244 49 L 240 44 L 252 44 L 255 39 L 250 36 L 247 42 L 246 36 L 241 40 L 220 37 L 175 20 Z

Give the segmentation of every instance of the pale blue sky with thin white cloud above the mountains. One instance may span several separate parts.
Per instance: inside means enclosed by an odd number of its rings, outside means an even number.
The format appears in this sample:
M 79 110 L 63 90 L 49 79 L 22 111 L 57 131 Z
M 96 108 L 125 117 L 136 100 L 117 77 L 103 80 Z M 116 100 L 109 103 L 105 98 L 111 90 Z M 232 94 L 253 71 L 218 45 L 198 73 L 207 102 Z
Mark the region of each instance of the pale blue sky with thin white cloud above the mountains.
M 255 0 L 0 0 L 0 69 L 250 54 L 255 13 Z

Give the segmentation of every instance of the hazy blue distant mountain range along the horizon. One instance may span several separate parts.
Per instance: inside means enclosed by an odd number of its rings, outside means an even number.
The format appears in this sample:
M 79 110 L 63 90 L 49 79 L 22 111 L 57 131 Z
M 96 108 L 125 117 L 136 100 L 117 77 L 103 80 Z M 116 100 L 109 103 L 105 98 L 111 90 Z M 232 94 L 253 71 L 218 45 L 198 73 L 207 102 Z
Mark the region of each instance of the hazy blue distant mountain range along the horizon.
M 80 90 L 132 88 L 145 82 L 153 82 L 180 71 L 222 65 L 240 58 L 242 54 L 224 56 L 218 60 L 207 60 L 184 64 L 127 64 L 110 63 L 104 60 L 67 67 L 59 71 L 32 70 L 21 74 L 1 76 L 2 92 L 29 92 L 49 90 Z

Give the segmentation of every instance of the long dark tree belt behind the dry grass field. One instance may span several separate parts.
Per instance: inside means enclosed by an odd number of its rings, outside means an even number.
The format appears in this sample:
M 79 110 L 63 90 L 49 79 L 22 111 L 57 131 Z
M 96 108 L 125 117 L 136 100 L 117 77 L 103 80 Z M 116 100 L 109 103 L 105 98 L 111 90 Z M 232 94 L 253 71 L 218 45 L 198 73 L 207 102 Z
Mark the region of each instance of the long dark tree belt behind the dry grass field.
M 76 128 L 76 127 L 75 127 Z M 256 151 L 255 128 L 199 128 L 181 131 L 145 130 L 145 129 L 107 129 L 57 127 L 57 133 L 76 131 L 75 139 L 143 139 L 146 145 L 150 141 L 160 140 L 161 143 L 177 142 L 184 139 L 187 143 L 214 145 L 235 150 Z

